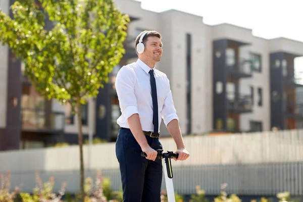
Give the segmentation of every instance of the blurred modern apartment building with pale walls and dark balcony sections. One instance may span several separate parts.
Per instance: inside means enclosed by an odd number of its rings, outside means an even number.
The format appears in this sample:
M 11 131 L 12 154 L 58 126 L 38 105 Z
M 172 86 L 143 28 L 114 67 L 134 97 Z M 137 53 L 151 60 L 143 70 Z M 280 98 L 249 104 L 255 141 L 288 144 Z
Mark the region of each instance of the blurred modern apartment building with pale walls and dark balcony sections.
M 170 79 L 184 135 L 303 127 L 299 98 L 303 83 L 293 62 L 303 56 L 303 42 L 268 40 L 252 35 L 251 29 L 226 23 L 210 26 L 203 17 L 175 10 L 150 12 L 132 0 L 115 2 L 131 18 L 126 53 L 110 74 L 110 82 L 82 106 L 86 138 L 93 134 L 115 141 L 120 116 L 115 75 L 137 60 L 134 41 L 142 30 L 162 34 L 164 52 L 156 68 Z M 9 0 L 0 6 L 9 12 Z M 9 48 L 2 46 L 0 51 L 0 150 L 77 143 L 77 120 L 70 107 L 39 96 Z M 168 135 L 162 124 L 161 136 Z

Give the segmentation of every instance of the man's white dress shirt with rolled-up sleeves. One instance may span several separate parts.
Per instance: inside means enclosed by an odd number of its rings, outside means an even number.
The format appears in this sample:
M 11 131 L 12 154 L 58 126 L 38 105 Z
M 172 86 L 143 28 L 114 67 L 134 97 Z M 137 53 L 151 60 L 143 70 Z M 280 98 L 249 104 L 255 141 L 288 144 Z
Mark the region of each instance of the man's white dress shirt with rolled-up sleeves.
M 154 131 L 153 100 L 151 99 L 150 75 L 151 69 L 140 59 L 137 62 L 123 66 L 116 77 L 116 90 L 121 109 L 121 116 L 117 119 L 120 127 L 129 128 L 127 119 L 133 114 L 139 114 L 142 130 Z M 164 120 L 165 125 L 176 114 L 169 79 L 166 74 L 153 68 L 157 85 L 159 131 Z

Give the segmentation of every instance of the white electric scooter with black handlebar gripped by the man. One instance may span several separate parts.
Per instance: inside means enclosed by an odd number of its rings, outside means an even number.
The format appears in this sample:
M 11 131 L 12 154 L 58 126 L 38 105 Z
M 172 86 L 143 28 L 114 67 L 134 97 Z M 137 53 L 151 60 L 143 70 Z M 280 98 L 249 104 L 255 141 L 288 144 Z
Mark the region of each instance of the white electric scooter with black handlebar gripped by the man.
M 175 192 L 174 192 L 174 184 L 173 184 L 173 170 L 171 159 L 178 158 L 179 154 L 173 153 L 173 151 L 167 151 L 167 153 L 163 153 L 163 149 L 157 149 L 158 155 L 157 158 L 164 159 L 164 176 L 165 176 L 165 184 L 166 184 L 166 192 L 167 198 L 169 202 L 176 202 L 175 200 Z M 142 151 L 142 157 L 146 157 L 147 155 Z

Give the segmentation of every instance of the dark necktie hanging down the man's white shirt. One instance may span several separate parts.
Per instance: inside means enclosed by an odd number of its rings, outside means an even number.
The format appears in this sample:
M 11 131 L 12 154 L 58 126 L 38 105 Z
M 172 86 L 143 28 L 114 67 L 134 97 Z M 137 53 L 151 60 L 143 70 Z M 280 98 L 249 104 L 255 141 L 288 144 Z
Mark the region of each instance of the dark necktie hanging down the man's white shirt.
M 156 79 L 154 76 L 154 70 L 149 71 L 150 74 L 150 87 L 151 87 L 151 99 L 153 99 L 153 124 L 154 124 L 154 133 L 158 133 L 159 121 L 158 121 L 158 98 L 157 98 L 157 87 Z

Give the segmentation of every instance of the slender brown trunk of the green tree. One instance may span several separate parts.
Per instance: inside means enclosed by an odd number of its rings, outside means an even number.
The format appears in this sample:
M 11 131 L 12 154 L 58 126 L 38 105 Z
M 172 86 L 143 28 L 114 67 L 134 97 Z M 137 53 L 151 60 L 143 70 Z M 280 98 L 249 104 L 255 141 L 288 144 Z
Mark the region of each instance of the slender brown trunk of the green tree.
M 82 115 L 81 115 L 81 106 L 80 106 L 80 97 L 77 98 L 76 106 L 77 118 L 78 118 L 78 141 L 80 149 L 80 194 L 81 202 L 84 202 L 84 164 L 83 164 L 83 132 L 82 132 Z

